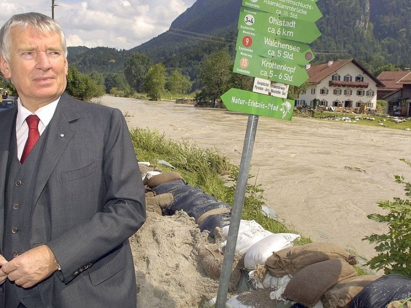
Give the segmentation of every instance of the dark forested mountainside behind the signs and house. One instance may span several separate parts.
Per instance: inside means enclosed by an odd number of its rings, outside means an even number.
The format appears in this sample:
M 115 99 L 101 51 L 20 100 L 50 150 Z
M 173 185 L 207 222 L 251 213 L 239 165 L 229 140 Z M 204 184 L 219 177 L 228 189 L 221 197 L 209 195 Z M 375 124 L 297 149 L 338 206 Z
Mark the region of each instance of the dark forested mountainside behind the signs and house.
M 355 57 L 371 72 L 384 64 L 411 65 L 409 0 L 319 0 L 322 36 L 311 44 L 313 63 Z M 130 50 L 70 47 L 69 62 L 81 72 L 121 71 L 133 52 L 145 53 L 168 71 L 195 79 L 203 56 L 227 49 L 234 55 L 241 0 L 197 0 L 165 33 Z

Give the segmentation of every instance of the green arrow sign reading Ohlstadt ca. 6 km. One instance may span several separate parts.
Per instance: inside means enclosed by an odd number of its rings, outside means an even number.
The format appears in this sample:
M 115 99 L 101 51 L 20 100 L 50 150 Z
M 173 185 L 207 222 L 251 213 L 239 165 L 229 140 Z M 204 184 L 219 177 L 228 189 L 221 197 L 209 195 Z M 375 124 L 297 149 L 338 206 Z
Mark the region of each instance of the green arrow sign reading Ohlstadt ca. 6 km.
M 320 30 L 313 22 L 275 16 L 247 7 L 240 9 L 238 29 L 304 43 L 312 43 L 321 35 Z

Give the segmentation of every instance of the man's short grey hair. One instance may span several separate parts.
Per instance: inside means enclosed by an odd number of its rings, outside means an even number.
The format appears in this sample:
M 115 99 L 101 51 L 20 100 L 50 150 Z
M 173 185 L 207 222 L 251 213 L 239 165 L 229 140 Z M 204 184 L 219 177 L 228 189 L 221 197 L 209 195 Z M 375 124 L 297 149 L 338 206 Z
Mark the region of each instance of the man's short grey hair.
M 66 35 L 61 26 L 52 18 L 41 13 L 24 13 L 16 14 L 3 25 L 0 29 L 0 54 L 4 59 L 10 61 L 10 30 L 14 27 L 22 27 L 23 29 L 32 28 L 39 33 L 55 33 L 60 34 L 61 46 L 67 57 Z

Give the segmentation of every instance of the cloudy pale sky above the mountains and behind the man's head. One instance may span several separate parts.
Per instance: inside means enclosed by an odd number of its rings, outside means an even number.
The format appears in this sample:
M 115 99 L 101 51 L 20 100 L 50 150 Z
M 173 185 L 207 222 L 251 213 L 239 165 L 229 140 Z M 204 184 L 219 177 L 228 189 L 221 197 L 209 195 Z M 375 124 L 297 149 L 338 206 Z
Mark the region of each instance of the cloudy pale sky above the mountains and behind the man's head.
M 196 0 L 54 0 L 67 46 L 131 49 L 167 31 Z M 52 0 L 0 0 L 1 26 L 14 14 L 51 17 Z

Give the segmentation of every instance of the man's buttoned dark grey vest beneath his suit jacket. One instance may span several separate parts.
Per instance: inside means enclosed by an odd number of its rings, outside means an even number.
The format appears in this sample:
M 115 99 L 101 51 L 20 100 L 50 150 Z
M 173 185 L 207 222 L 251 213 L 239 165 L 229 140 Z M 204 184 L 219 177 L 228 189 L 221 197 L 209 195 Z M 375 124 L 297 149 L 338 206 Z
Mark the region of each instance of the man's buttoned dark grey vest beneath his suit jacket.
M 46 131 L 35 144 L 23 165 L 17 158 L 15 134 L 11 138 L 7 164 L 8 181 L 5 190 L 5 226 L 2 250 L 6 260 L 11 260 L 30 249 L 31 213 L 35 202 L 32 200 L 33 190 L 45 135 Z M 20 302 L 27 308 L 44 307 L 38 287 L 24 289 L 9 280 L 5 282 L 4 287 L 6 308 L 15 308 Z

